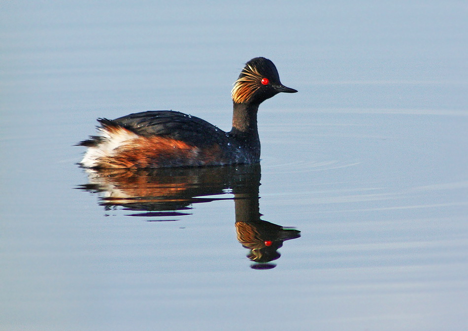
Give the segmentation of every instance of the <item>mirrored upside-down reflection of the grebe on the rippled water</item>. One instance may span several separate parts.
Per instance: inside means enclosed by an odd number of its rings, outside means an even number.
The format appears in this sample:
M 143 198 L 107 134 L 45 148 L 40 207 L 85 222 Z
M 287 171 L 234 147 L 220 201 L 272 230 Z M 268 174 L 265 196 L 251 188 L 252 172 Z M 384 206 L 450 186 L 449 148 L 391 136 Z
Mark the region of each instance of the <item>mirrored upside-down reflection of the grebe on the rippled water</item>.
M 194 203 L 234 199 L 237 240 L 249 249 L 254 269 L 275 266 L 277 251 L 285 240 L 300 231 L 260 219 L 260 165 L 229 165 L 196 168 L 86 169 L 88 184 L 78 188 L 100 194 L 106 210 L 117 207 L 134 211 L 130 216 L 173 221 L 190 214 Z M 234 194 L 234 198 L 223 195 Z M 155 219 L 156 218 L 156 219 Z

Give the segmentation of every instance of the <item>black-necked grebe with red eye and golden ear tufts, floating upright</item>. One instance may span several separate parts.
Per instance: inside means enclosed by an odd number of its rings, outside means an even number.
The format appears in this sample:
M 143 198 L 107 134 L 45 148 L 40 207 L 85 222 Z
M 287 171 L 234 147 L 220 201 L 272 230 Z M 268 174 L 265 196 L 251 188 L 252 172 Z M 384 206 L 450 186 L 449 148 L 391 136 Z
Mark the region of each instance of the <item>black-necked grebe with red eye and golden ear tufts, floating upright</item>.
M 146 111 L 115 120 L 100 118 L 100 135 L 78 143 L 88 147 L 80 165 L 146 168 L 258 163 L 258 107 L 280 92 L 298 91 L 281 84 L 270 60 L 254 58 L 234 83 L 230 132 L 178 111 Z

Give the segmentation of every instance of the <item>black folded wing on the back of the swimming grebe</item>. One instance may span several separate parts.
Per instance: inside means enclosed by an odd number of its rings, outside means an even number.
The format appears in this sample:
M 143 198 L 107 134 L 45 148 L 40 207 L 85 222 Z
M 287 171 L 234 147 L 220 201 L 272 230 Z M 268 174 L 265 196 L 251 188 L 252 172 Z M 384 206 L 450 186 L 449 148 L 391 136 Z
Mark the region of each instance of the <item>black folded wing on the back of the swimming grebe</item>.
M 119 117 L 111 122 L 142 136 L 162 135 L 202 146 L 223 143 L 226 132 L 201 118 L 178 111 L 145 111 Z

